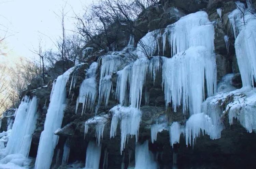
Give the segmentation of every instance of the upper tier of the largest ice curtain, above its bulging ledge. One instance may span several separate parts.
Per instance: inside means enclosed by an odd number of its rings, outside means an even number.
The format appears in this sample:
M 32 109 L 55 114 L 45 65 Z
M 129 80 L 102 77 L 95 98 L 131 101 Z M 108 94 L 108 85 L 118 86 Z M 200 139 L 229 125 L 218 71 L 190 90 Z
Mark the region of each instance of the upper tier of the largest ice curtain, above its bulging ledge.
M 165 49 L 168 40 L 171 47 L 171 56 L 183 52 L 191 46 L 209 47 L 214 51 L 214 28 L 208 14 L 203 11 L 183 16 L 172 25 L 167 26 L 163 33 L 162 44 Z

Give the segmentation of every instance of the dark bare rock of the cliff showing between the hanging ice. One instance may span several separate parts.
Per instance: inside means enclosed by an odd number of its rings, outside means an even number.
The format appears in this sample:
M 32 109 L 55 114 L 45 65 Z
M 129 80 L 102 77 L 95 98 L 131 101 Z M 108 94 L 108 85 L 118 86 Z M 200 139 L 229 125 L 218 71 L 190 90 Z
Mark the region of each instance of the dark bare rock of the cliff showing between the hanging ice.
M 222 8 L 222 18 L 216 12 L 217 8 Z M 228 20 L 228 14 L 236 8 L 234 1 L 232 0 L 168 0 L 160 1 L 155 6 L 149 7 L 143 14 L 141 14 L 134 22 L 138 31 L 138 37 L 135 40 L 139 41 L 148 30 L 156 30 L 165 28 L 167 25 L 173 24 L 186 14 L 193 13 L 199 10 L 207 11 L 211 22 L 215 23 L 215 53 L 216 53 L 216 66 L 217 66 L 217 80 L 218 82 L 223 78 L 224 75 L 229 73 L 236 73 L 232 78 L 232 85 L 236 88 L 242 87 L 241 75 L 239 73 L 235 50 L 234 50 L 234 37 L 231 33 L 230 23 Z M 117 25 L 113 25 L 117 27 Z M 120 33 L 117 41 L 117 50 L 122 50 L 129 40 L 130 32 L 126 32 L 127 27 L 123 26 L 120 28 L 123 33 Z M 162 31 L 162 30 L 161 30 Z M 114 34 L 114 33 L 113 33 Z M 224 36 L 229 37 L 229 52 L 226 48 Z M 91 47 L 95 47 L 94 44 L 89 44 Z M 160 45 L 161 46 L 161 45 Z M 166 46 L 166 53 L 159 55 L 171 56 L 169 44 Z M 162 51 L 161 47 L 159 47 Z M 157 52 L 156 52 L 157 53 Z M 155 55 L 157 55 L 155 53 Z M 94 53 L 95 54 L 95 53 Z M 123 55 L 123 53 L 122 53 Z M 67 82 L 67 106 L 65 109 L 62 126 L 58 129 L 55 134 L 59 136 L 59 142 L 55 149 L 55 155 L 53 157 L 52 168 L 58 168 L 61 164 L 61 158 L 63 155 L 63 146 L 66 140 L 69 141 L 70 155 L 69 163 L 81 165 L 77 161 L 85 162 L 85 152 L 88 142 L 96 140 L 97 134 L 96 126 L 90 127 L 88 133 L 85 134 L 85 121 L 95 116 L 95 114 L 108 114 L 110 119 L 112 113 L 109 112 L 111 108 L 118 104 L 115 96 L 115 89 L 117 87 L 117 73 L 114 72 L 112 75 L 112 91 L 110 93 L 109 104 L 105 106 L 104 103 L 99 103 L 98 98 L 96 99 L 93 110 L 86 109 L 82 114 L 82 104 L 77 108 L 76 113 L 76 99 L 79 95 L 79 89 L 86 77 L 86 71 L 89 65 L 98 60 L 99 66 L 96 71 L 96 81 L 98 86 L 100 85 L 100 66 L 101 61 L 98 59 L 101 57 L 99 54 L 93 55 L 83 65 L 78 66 L 75 71 L 70 75 L 69 81 Z M 104 57 L 104 56 L 103 56 Z M 28 90 L 24 92 L 26 95 L 36 95 L 39 98 L 37 129 L 35 130 L 32 143 L 30 156 L 35 157 L 37 154 L 37 148 L 39 144 L 40 134 L 44 128 L 44 121 L 49 106 L 49 99 L 52 89 L 52 82 L 64 70 L 73 66 L 73 62 L 59 61 L 53 68 L 49 70 L 47 75 L 47 86 L 42 86 L 42 78 L 34 78 L 28 87 Z M 71 79 L 75 78 L 75 85 L 72 85 Z M 170 106 L 166 108 L 165 98 L 162 87 L 162 76 L 161 71 L 156 74 L 155 81 L 150 75 L 145 78 L 146 88 L 142 91 L 142 101 L 140 110 L 142 112 L 141 123 L 139 128 L 139 139 L 138 142 L 143 143 L 145 140 L 149 140 L 149 149 L 154 152 L 155 159 L 159 164 L 160 169 L 166 169 L 173 167 L 173 154 L 177 154 L 177 167 L 181 169 L 188 168 L 255 168 L 256 158 L 255 151 L 256 145 L 253 144 L 256 141 L 255 133 L 247 133 L 239 122 L 235 121 L 233 125 L 229 124 L 228 115 L 223 116 L 221 119 L 224 124 L 224 129 L 221 132 L 221 138 L 217 140 L 211 140 L 205 133 L 200 133 L 200 138 L 196 140 L 194 146 L 186 146 L 186 140 L 184 134 L 181 134 L 180 143 L 175 143 L 173 147 L 170 145 L 170 136 L 168 128 L 163 129 L 162 132 L 158 133 L 157 140 L 152 143 L 151 138 L 151 126 L 158 123 L 159 118 L 163 118 L 164 121 L 169 125 L 173 122 L 179 122 L 181 125 L 185 125 L 186 120 L 189 118 L 189 112 L 183 113 L 182 106 L 174 112 Z M 147 96 L 149 95 L 148 99 Z M 129 99 L 129 98 L 128 98 Z M 127 99 L 127 100 L 128 100 Z M 218 105 L 222 111 L 226 109 L 226 106 L 232 102 L 232 99 L 227 99 L 225 103 Z M 10 110 L 4 114 L 2 118 L 1 130 L 6 129 L 6 117 L 13 116 L 14 110 Z M 10 115 L 11 114 L 11 115 Z M 225 115 L 225 114 L 224 114 Z M 120 122 L 119 122 L 120 123 Z M 120 168 L 121 163 L 125 163 L 125 168 L 129 164 L 134 163 L 135 160 L 135 144 L 136 140 L 134 137 L 129 138 L 125 143 L 125 149 L 123 155 L 120 154 L 120 124 L 117 125 L 117 133 L 115 138 L 110 138 L 110 126 L 111 120 L 105 124 L 101 151 L 100 166 L 103 166 L 104 150 L 109 154 L 108 156 L 108 168 Z M 59 153 L 57 153 L 59 152 Z M 123 161 L 123 157 L 124 161 Z M 130 156 L 130 157 L 129 157 Z M 129 159 L 129 158 L 130 159 Z M 59 160 L 58 160 L 59 159 Z M 71 167 L 61 165 L 59 168 L 64 169 Z M 175 167 L 175 166 L 174 166 Z

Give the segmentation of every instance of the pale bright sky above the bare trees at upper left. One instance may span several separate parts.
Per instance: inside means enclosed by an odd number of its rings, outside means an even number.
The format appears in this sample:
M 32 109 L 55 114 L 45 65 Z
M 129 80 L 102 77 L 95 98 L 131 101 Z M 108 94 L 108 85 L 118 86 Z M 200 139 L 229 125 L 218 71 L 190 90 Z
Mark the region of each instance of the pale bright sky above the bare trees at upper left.
M 60 15 L 66 4 L 65 26 L 67 30 L 74 30 L 73 10 L 76 14 L 82 14 L 83 8 L 92 2 L 93 0 L 0 0 L 0 37 L 4 36 L 1 29 L 8 28 L 10 34 L 13 34 L 5 40 L 8 49 L 4 51 L 11 51 L 7 56 L 0 55 L 0 63 L 33 56 L 29 49 L 36 48 L 40 38 L 46 48 L 54 48 L 52 41 L 41 33 L 53 40 L 61 35 L 61 20 L 55 13 Z

